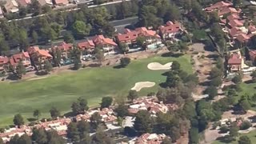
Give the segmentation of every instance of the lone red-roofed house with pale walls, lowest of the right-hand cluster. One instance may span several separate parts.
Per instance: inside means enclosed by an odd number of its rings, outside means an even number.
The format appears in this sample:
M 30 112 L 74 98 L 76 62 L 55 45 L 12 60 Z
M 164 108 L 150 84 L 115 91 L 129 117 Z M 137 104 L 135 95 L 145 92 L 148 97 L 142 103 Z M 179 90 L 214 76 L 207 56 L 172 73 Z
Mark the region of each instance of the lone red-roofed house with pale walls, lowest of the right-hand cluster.
M 233 53 L 230 55 L 230 58 L 228 59 L 228 67 L 230 68 L 231 72 L 240 71 L 242 69 L 242 62 L 243 58 L 238 53 Z

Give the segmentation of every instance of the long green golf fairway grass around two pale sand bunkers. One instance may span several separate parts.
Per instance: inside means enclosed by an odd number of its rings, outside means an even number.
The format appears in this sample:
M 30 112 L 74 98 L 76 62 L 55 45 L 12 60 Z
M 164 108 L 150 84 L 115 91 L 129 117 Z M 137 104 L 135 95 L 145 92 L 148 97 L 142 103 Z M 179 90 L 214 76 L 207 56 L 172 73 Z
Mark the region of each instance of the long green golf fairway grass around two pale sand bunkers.
M 51 106 L 56 106 L 62 114 L 70 111 L 71 102 L 78 97 L 86 98 L 90 106 L 98 106 L 104 96 L 126 97 L 135 82 L 156 82 L 153 88 L 145 88 L 140 95 L 158 90 L 158 84 L 164 82 L 164 70 L 148 70 L 150 62 L 178 61 L 182 69 L 192 73 L 190 57 L 178 58 L 152 57 L 134 60 L 129 66 L 114 69 L 113 66 L 86 68 L 74 72 L 50 75 L 48 78 L 0 83 L 0 126 L 12 124 L 14 114 L 21 113 L 25 118 L 32 118 L 33 110 L 41 110 L 41 118 L 49 118 Z

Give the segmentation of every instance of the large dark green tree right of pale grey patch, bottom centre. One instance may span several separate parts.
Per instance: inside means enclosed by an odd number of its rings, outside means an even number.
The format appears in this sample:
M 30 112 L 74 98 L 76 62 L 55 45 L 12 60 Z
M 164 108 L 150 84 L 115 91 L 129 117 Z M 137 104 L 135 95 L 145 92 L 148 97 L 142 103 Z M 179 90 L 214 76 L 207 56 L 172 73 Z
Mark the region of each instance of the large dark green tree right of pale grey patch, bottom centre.
M 150 118 L 150 113 L 147 110 L 138 111 L 134 121 L 134 129 L 138 131 L 138 134 L 152 132 L 152 119 Z

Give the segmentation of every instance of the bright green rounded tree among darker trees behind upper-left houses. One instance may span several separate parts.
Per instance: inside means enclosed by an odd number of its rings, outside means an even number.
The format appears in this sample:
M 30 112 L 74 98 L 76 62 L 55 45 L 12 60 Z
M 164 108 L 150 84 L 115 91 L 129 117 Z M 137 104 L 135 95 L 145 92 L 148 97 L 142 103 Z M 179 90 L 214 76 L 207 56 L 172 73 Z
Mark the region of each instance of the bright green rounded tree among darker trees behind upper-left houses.
M 72 32 L 77 38 L 88 35 L 90 33 L 90 29 L 91 26 L 86 25 L 86 23 L 82 21 L 76 21 L 72 26 Z

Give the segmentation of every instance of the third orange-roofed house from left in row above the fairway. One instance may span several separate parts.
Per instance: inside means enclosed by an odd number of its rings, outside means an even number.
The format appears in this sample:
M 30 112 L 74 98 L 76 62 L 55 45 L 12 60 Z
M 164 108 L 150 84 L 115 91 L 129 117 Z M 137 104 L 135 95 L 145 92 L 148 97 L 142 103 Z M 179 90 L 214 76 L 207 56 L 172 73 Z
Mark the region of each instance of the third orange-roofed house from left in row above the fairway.
M 27 52 L 30 54 L 30 58 L 37 68 L 40 68 L 46 60 L 51 61 L 53 58 L 48 50 L 40 50 L 38 46 L 30 46 Z

